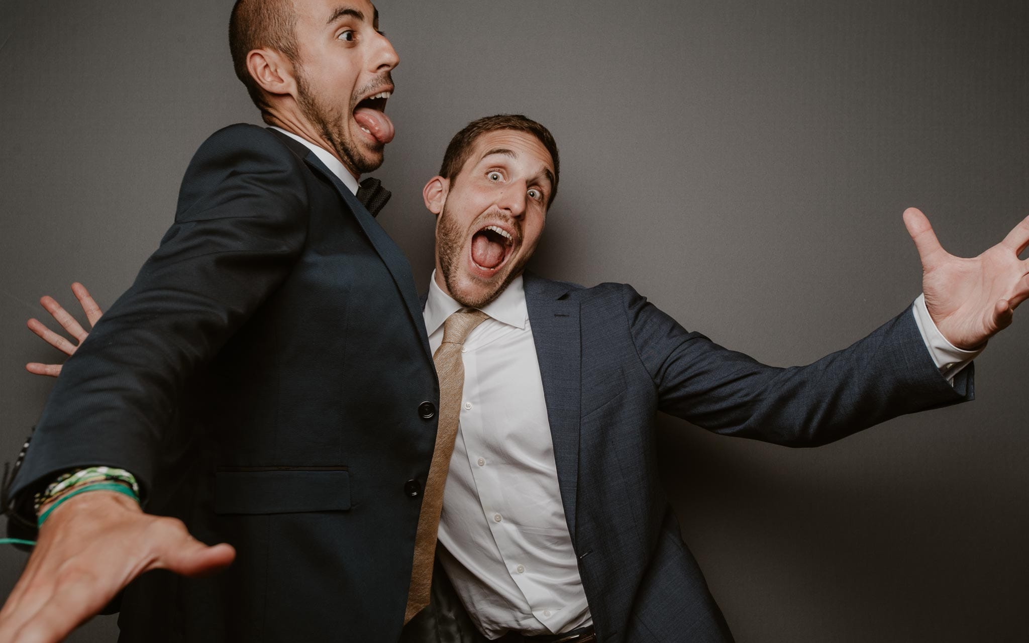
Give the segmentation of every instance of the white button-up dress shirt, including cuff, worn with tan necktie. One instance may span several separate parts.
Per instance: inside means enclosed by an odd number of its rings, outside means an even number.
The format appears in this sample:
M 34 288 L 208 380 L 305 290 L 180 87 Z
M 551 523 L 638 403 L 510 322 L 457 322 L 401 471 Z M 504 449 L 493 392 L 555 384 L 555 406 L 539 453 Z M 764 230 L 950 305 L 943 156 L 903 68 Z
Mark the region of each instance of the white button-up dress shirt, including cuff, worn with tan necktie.
M 429 283 L 424 317 L 432 352 L 461 305 Z M 478 630 L 558 634 L 593 618 L 565 522 L 525 289 L 519 277 L 482 309 L 489 319 L 462 350 L 458 435 L 439 519 L 439 560 Z M 981 351 L 962 351 L 912 307 L 933 362 L 953 378 Z

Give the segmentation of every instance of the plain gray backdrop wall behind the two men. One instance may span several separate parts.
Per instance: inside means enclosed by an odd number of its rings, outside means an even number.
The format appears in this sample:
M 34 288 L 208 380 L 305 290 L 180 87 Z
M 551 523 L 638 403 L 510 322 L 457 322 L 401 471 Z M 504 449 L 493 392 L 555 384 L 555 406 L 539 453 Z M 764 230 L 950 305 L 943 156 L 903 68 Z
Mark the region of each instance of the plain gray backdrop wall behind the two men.
M 256 120 L 230 5 L 0 0 L 0 454 L 51 386 L 23 364 L 59 357 L 25 328 L 39 296 L 70 303 L 77 279 L 109 305 L 197 146 Z M 904 207 L 965 256 L 1029 213 L 1023 1 L 379 6 L 402 59 L 380 220 L 420 284 L 421 187 L 449 138 L 495 112 L 561 145 L 537 272 L 632 283 L 772 364 L 842 348 L 918 295 Z M 683 536 L 741 643 L 1026 640 L 1027 338 L 1023 311 L 977 362 L 975 402 L 818 450 L 662 420 Z M 24 560 L 0 550 L 4 594 Z

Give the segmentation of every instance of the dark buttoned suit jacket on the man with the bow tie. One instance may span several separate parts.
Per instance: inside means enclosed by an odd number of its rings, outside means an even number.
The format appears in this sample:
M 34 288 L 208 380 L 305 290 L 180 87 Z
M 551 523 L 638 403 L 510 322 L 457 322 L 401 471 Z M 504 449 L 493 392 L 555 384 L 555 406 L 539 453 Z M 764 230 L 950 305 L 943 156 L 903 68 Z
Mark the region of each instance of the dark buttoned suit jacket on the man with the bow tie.
M 133 582 L 122 641 L 394 641 L 437 403 L 399 248 L 307 147 L 232 126 L 65 364 L 12 493 L 118 466 L 147 511 L 236 546 L 210 578 Z

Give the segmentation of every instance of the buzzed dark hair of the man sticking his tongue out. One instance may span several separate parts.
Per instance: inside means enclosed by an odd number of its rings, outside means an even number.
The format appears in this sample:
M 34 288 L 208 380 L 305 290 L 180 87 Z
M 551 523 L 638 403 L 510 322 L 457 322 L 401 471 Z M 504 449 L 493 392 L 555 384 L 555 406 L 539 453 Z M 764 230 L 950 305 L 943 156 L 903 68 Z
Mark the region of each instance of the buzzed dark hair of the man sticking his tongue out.
M 254 49 L 275 49 L 290 62 L 299 58 L 296 47 L 296 11 L 293 0 L 236 0 L 228 20 L 228 48 L 236 76 L 247 87 L 250 100 L 261 111 L 269 107 L 264 92 L 247 70 L 247 55 Z

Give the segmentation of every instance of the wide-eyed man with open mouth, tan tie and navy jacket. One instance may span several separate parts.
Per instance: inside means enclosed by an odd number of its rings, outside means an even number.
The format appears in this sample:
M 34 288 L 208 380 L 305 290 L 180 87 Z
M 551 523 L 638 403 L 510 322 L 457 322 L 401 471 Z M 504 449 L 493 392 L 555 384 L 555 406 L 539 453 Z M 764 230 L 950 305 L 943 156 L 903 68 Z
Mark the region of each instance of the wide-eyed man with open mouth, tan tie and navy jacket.
M 849 348 L 776 368 L 631 286 L 527 273 L 559 178 L 549 132 L 498 115 L 459 132 L 423 189 L 440 419 L 414 566 L 435 572 L 413 579 L 431 602 L 401 640 L 732 641 L 661 491 L 655 414 L 810 446 L 971 399 L 970 360 L 1029 295 L 1029 219 L 958 259 L 908 210 L 923 295 Z

